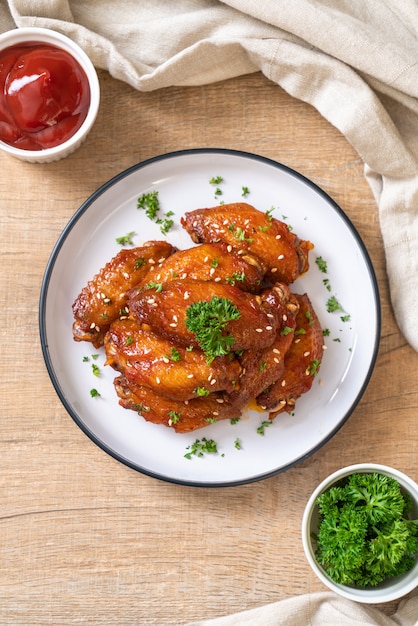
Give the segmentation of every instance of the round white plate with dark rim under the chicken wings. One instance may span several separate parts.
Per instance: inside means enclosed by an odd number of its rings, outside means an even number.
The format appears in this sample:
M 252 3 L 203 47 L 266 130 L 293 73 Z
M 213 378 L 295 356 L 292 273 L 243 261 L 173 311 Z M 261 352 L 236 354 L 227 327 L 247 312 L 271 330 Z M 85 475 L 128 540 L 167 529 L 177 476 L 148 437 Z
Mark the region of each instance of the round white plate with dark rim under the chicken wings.
M 223 182 L 210 181 L 221 176 Z M 243 188 L 248 194 L 242 196 Z M 222 193 L 217 194 L 217 189 Z M 174 226 L 160 226 L 138 210 L 137 199 L 158 191 L 161 212 L 173 211 Z M 115 372 L 104 367 L 104 350 L 72 337 L 71 305 L 83 286 L 120 249 L 116 238 L 134 232 L 134 245 L 167 238 L 191 247 L 180 226 L 185 211 L 221 202 L 246 201 L 286 221 L 309 239 L 310 269 L 292 286 L 308 293 L 324 329 L 326 350 L 312 389 L 293 414 L 247 410 L 189 434 L 147 423 L 123 409 L 113 387 Z M 326 262 L 321 272 L 316 259 Z M 328 312 L 335 296 L 343 311 Z M 80 428 L 108 454 L 159 479 L 194 486 L 249 483 L 284 471 L 324 445 L 348 419 L 371 376 L 380 337 L 380 303 L 375 274 L 355 228 L 314 183 L 269 159 L 231 150 L 174 152 L 139 163 L 100 187 L 74 214 L 49 260 L 40 298 L 40 336 L 45 363 L 64 407 Z M 95 356 L 94 355 L 98 355 Z M 99 376 L 93 373 L 93 364 Z M 91 396 L 91 389 L 100 393 Z M 213 439 L 217 453 L 185 455 L 196 439 Z

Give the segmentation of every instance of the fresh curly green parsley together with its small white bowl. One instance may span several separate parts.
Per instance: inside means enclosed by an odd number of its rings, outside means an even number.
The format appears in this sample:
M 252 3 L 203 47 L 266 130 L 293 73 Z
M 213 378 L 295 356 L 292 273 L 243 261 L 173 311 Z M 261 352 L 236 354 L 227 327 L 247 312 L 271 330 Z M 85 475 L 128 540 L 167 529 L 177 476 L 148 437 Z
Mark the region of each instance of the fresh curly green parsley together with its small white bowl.
M 418 485 L 384 465 L 342 468 L 311 495 L 302 542 L 336 593 L 370 604 L 395 600 L 418 585 Z

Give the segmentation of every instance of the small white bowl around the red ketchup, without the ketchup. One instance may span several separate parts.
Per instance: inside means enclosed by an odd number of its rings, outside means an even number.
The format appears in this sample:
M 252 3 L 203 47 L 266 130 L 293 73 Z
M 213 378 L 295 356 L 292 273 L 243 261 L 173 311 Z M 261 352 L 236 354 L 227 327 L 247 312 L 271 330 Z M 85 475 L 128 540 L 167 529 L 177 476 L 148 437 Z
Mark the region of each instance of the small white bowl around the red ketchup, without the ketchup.
M 61 48 L 69 53 L 84 70 L 90 87 L 90 106 L 81 127 L 65 142 L 43 150 L 23 150 L 0 141 L 0 150 L 22 161 L 49 163 L 72 154 L 85 141 L 99 110 L 100 85 L 96 70 L 87 54 L 69 37 L 48 28 L 16 28 L 0 35 L 0 51 L 15 45 L 41 43 Z

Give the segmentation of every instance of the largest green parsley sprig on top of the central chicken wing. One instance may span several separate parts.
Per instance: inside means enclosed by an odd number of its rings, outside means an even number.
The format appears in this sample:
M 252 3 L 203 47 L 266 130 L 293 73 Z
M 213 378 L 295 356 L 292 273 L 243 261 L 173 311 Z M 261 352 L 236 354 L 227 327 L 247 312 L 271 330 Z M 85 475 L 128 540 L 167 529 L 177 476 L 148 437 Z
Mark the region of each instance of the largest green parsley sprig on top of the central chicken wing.
M 209 363 L 231 351 L 235 339 L 222 331 L 229 322 L 240 317 L 241 312 L 231 300 L 218 296 L 207 302 L 194 302 L 187 308 L 186 327 L 195 335 Z

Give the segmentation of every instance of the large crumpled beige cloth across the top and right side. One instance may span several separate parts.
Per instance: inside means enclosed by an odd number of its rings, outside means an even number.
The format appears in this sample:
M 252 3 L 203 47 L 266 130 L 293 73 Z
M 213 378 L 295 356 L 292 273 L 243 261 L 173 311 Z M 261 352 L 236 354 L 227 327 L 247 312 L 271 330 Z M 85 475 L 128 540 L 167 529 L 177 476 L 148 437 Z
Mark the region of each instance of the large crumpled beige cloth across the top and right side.
M 44 26 L 141 91 L 261 71 L 357 150 L 379 208 L 391 300 L 418 351 L 415 0 L 9 0 L 0 29 Z

